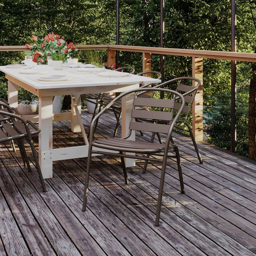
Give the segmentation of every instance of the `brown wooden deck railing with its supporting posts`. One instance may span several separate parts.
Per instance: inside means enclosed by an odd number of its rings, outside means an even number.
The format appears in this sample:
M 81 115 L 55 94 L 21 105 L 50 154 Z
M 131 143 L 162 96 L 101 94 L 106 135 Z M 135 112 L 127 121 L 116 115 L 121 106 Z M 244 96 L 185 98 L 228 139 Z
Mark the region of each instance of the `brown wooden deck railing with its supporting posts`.
M 151 70 L 151 55 L 175 55 L 192 57 L 192 76 L 201 81 L 195 101 L 193 103 L 193 134 L 196 141 L 203 140 L 203 58 L 226 59 L 234 61 L 256 62 L 254 53 L 237 53 L 228 51 L 206 51 L 175 48 L 158 48 L 125 45 L 78 45 L 78 50 L 107 50 L 107 62 L 109 65 L 115 63 L 115 51 L 133 51 L 142 53 L 143 71 Z M 25 46 L 0 46 L 0 51 L 24 51 Z

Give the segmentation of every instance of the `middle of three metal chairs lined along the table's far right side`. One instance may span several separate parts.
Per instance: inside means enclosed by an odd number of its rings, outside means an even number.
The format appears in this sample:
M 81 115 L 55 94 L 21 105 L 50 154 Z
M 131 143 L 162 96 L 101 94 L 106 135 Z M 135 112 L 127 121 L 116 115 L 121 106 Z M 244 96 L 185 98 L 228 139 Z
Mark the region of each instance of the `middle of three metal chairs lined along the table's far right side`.
M 151 74 L 151 76 L 152 76 L 152 74 L 157 75 L 157 79 L 160 79 L 162 77 L 161 73 L 159 73 L 157 71 L 145 71 L 145 72 L 138 73 L 137 75 L 147 75 L 147 74 Z M 147 83 L 145 85 L 140 86 L 140 88 L 150 87 L 151 85 L 156 85 L 156 83 Z M 142 94 L 140 97 L 151 98 L 150 94 L 152 94 L 152 92 L 149 92 L 147 94 Z M 97 103 L 100 105 L 100 110 L 102 109 L 103 106 L 106 106 L 111 101 L 113 101 L 112 97 L 105 95 L 104 93 L 101 94 L 101 96 L 97 100 Z M 143 108 L 143 109 L 145 109 L 145 108 Z M 120 119 L 121 119 L 121 114 L 122 114 L 121 99 L 119 101 L 115 102 L 115 104 L 112 105 L 109 110 L 111 110 L 114 113 L 115 118 L 117 119 L 117 123 L 115 125 L 115 129 L 114 129 L 114 133 L 113 133 L 113 137 L 115 137 L 115 136 L 117 136 L 117 130 L 118 130 L 118 126 L 120 124 Z M 95 113 L 93 114 L 92 118 L 94 118 L 94 116 L 95 116 Z M 97 124 L 96 124 L 96 126 L 97 126 Z M 141 132 L 141 135 L 143 135 L 142 131 L 140 131 L 140 132 Z

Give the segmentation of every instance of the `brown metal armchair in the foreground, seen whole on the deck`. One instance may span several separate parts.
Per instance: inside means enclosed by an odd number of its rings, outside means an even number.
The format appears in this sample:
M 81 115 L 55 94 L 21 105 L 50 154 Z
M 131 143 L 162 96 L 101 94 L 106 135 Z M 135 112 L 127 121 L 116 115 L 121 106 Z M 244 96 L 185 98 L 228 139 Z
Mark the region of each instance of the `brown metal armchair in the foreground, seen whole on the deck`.
M 162 194 L 163 194 L 163 184 L 165 179 L 165 170 L 166 170 L 166 161 L 169 149 L 174 149 L 175 157 L 177 159 L 177 166 L 178 166 L 178 173 L 179 173 L 179 181 L 181 185 L 181 192 L 185 193 L 184 191 L 184 184 L 183 184 L 183 177 L 182 177 L 182 170 L 181 170 L 181 162 L 179 158 L 179 150 L 177 145 L 171 143 L 171 133 L 173 132 L 173 128 L 175 126 L 176 121 L 179 118 L 179 115 L 182 113 L 183 108 L 185 106 L 184 97 L 178 93 L 177 91 L 163 89 L 163 88 L 143 88 L 141 89 L 134 89 L 127 91 L 110 102 L 107 106 L 103 108 L 103 110 L 96 115 L 96 117 L 91 121 L 90 125 L 90 133 L 93 134 L 94 126 L 96 121 L 99 117 L 112 105 L 114 105 L 119 99 L 123 96 L 126 96 L 131 93 L 135 93 L 134 101 L 133 101 L 133 110 L 131 112 L 131 121 L 129 126 L 129 133 L 127 136 L 123 138 L 109 138 L 103 139 L 99 141 L 93 141 L 93 136 L 90 136 L 89 139 L 89 152 L 88 152 L 88 160 L 87 160 L 87 169 L 86 169 L 86 181 L 85 181 L 85 191 L 83 197 L 83 207 L 82 210 L 86 210 L 86 202 L 87 202 L 87 195 L 88 195 L 88 184 L 89 184 L 89 175 L 90 175 L 90 165 L 91 165 L 91 154 L 105 154 L 105 155 L 113 155 L 115 157 L 121 158 L 121 165 L 123 169 L 123 174 L 125 177 L 125 183 L 128 184 L 128 177 L 125 167 L 125 160 L 124 158 L 133 158 L 133 159 L 142 159 L 142 160 L 150 160 L 150 161 L 157 161 L 162 162 L 162 171 L 161 171 L 161 179 L 160 179 L 160 186 L 159 186 L 159 195 L 158 195 L 158 205 L 157 205 L 157 214 L 155 218 L 155 225 L 159 225 L 159 218 L 160 218 L 160 211 L 161 211 L 161 203 L 162 203 Z M 152 99 L 152 98 L 142 98 L 139 97 L 140 95 L 149 92 L 149 91 L 163 91 L 169 94 L 172 94 L 172 99 Z M 175 101 L 179 100 L 181 107 L 177 111 L 176 115 L 174 115 L 174 106 L 176 104 Z M 163 108 L 169 109 L 168 112 L 166 111 L 155 111 L 155 110 L 138 110 L 136 107 L 139 106 L 154 106 L 160 107 L 162 110 Z M 168 124 L 159 124 L 159 123 L 140 123 L 136 121 L 136 118 L 151 118 L 152 120 L 168 120 Z M 152 137 L 150 142 L 138 142 L 138 141 L 131 141 L 129 137 L 131 136 L 132 130 L 143 130 L 143 131 L 150 131 L 152 132 Z M 154 137 L 156 131 L 161 133 L 167 134 L 166 143 L 154 143 Z M 97 147 L 98 150 L 93 149 Z M 100 149 L 107 149 L 117 151 L 119 153 L 112 153 L 106 151 L 100 151 Z M 131 152 L 137 153 L 139 155 L 127 155 L 123 154 L 123 152 Z M 141 156 L 146 155 L 146 156 Z M 154 158 L 154 156 L 161 156 L 162 158 Z M 151 157 L 151 158 L 150 158 Z

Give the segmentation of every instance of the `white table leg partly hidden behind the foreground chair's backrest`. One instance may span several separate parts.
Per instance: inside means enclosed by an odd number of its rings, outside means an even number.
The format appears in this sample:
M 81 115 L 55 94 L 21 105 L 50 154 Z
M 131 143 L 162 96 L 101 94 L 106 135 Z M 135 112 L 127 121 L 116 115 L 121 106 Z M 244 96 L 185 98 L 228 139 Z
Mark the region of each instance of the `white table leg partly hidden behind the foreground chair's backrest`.
M 127 96 L 122 97 L 122 137 L 125 137 L 129 133 L 131 110 L 133 109 L 133 99 L 134 94 L 128 94 Z M 131 132 L 131 136 L 129 139 L 135 141 L 135 131 Z M 125 158 L 125 165 L 126 167 L 135 166 L 135 159 Z

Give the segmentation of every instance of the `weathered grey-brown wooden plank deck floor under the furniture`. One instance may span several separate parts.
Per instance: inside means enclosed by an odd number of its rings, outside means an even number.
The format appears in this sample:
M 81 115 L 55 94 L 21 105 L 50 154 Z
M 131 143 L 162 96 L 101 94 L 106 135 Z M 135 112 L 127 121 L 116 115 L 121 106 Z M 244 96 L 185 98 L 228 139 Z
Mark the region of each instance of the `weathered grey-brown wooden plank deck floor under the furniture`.
M 90 117 L 83 111 L 87 130 Z M 54 147 L 82 143 L 70 127 L 54 123 Z M 104 115 L 97 137 L 110 136 L 113 127 L 113 116 Z M 159 227 L 158 163 L 142 174 L 143 161 L 137 161 L 125 185 L 120 159 L 94 157 L 84 213 L 86 159 L 55 162 L 43 193 L 36 170 L 22 167 L 19 151 L 1 147 L 0 255 L 256 255 L 256 166 L 204 144 L 200 165 L 190 139 L 174 137 L 186 194 L 178 190 L 176 163 L 169 159 Z

